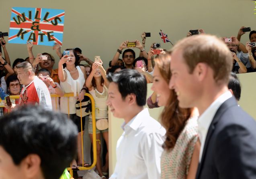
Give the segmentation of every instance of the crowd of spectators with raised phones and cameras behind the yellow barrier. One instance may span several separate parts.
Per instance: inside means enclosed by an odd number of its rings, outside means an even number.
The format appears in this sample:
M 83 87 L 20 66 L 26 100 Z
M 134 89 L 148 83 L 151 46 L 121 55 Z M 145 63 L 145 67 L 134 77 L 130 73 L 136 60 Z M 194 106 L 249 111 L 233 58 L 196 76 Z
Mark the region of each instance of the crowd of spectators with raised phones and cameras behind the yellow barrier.
M 246 42 L 246 44 L 242 44 L 240 39 L 246 33 L 243 32 L 243 28 L 244 26 L 239 29 L 237 36 L 221 38 L 233 56 L 232 71 L 234 73 L 256 71 L 256 45 L 254 46 L 251 44 L 256 42 L 256 31 L 252 30 L 249 32 L 249 41 Z M 199 29 L 199 32 L 200 34 L 205 33 L 203 29 Z M 191 32 L 188 32 L 187 36 L 192 36 Z M 57 100 L 55 98 L 51 98 L 50 106 L 52 106 L 52 109 L 67 114 L 68 117 L 72 119 L 72 121 L 77 125 L 79 134 L 86 131 L 90 134 L 90 139 L 92 139 L 92 116 L 88 115 L 86 121 L 83 120 L 83 131 L 81 131 L 80 117 L 76 115 L 77 101 L 82 101 L 84 99 L 85 93 L 88 91 L 93 96 L 95 101 L 96 120 L 98 121 L 100 119 L 108 119 L 108 107 L 106 105 L 106 99 L 108 98 L 108 80 L 106 75 L 108 73 L 115 73 L 125 68 L 129 68 L 137 70 L 139 73 L 143 74 L 147 80 L 147 83 L 152 83 L 154 80 L 154 58 L 166 54 L 166 50 L 164 49 L 160 49 L 160 53 L 156 54 L 157 48 L 155 48 L 154 44 L 150 44 L 150 50 L 148 52 L 145 51 L 145 32 L 141 34 L 141 41 L 132 41 L 135 44 L 133 48 L 138 48 L 140 50 L 137 56 L 131 47 L 127 47 L 129 42 L 131 41 L 127 40 L 121 42 L 120 46 L 117 48 L 117 52 L 115 52 L 113 56 L 113 59 L 109 62 L 109 67 L 106 70 L 104 69 L 101 60 L 100 62 L 93 62 L 88 57 L 86 57 L 85 54 L 82 54 L 82 50 L 80 48 L 66 49 L 70 51 L 70 54 L 63 55 L 61 52 L 61 46 L 56 43 L 53 46 L 53 50 L 60 59 L 56 60 L 58 63 L 58 68 L 53 69 L 55 59 L 51 52 L 42 52 L 34 56 L 33 43 L 30 41 L 27 42 L 28 57 L 25 59 L 17 58 L 11 65 L 6 48 L 8 44 L 6 45 L 4 38 L 1 38 L 0 44 L 3 49 L 3 54 L 0 53 L 0 85 L 9 95 L 20 95 L 21 99 L 27 100 L 29 95 L 24 95 L 24 92 L 26 91 L 24 89 L 27 88 L 32 81 L 35 83 L 38 82 L 38 80 L 42 80 L 43 84 L 46 85 L 45 88 L 48 89 L 50 94 L 57 94 L 60 96 L 60 98 L 57 98 Z M 46 55 L 47 59 L 43 59 L 42 55 Z M 86 64 L 81 64 L 82 61 L 86 62 Z M 21 75 L 24 75 L 20 72 L 28 72 L 28 75 L 30 76 L 29 79 L 31 80 L 24 83 L 24 79 L 27 77 L 20 77 Z M 42 82 L 39 83 L 42 85 Z M 35 86 L 37 86 L 37 84 L 35 84 Z M 41 95 L 39 93 L 41 93 L 41 91 L 37 91 L 37 94 Z M 74 97 L 63 97 L 65 93 L 74 93 Z M 158 97 L 154 92 L 147 100 L 147 104 L 150 108 L 153 108 L 158 107 L 157 102 Z M 14 101 L 14 103 L 19 105 L 26 103 L 26 101 L 21 103 L 17 99 Z M 35 100 L 34 104 L 36 103 L 43 104 L 45 101 Z M 0 116 L 3 116 L 4 113 L 7 112 L 7 109 L 0 108 Z M 85 130 L 84 126 L 88 127 L 88 129 Z M 100 140 L 100 133 L 102 133 L 108 151 L 108 128 L 106 127 L 106 129 L 103 130 L 97 129 L 96 133 L 97 140 Z M 81 135 L 78 135 L 78 141 L 81 141 L 79 137 L 81 137 Z M 108 153 L 105 155 L 105 165 L 102 167 L 100 146 L 102 145 L 97 143 L 98 158 L 96 168 L 100 177 L 104 178 L 104 174 L 108 171 Z M 72 167 L 74 170 L 79 169 L 79 166 L 85 166 L 84 163 L 86 161 L 82 160 L 80 151 L 81 144 L 78 142 L 78 159 L 72 162 Z

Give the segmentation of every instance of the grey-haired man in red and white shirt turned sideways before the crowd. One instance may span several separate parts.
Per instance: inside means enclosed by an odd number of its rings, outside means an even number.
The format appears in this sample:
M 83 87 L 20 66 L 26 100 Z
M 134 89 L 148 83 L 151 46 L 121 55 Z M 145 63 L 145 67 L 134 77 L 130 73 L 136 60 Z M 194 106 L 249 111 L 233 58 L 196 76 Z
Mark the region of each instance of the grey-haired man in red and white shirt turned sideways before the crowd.
M 16 65 L 18 80 L 23 84 L 20 93 L 19 105 L 40 105 L 45 109 L 52 110 L 51 96 L 45 83 L 35 76 L 33 66 L 29 62 Z M 11 109 L 16 105 L 12 104 Z

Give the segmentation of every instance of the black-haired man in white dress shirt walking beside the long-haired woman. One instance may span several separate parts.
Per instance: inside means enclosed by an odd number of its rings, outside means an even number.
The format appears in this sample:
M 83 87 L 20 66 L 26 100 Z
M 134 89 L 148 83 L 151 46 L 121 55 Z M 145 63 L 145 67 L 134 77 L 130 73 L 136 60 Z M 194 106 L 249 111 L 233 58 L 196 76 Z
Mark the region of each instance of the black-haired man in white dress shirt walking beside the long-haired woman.
M 117 142 L 117 163 L 110 179 L 160 179 L 160 158 L 166 133 L 150 117 L 146 104 L 147 82 L 136 70 L 124 69 L 108 77 L 107 105 L 123 118 L 123 134 Z

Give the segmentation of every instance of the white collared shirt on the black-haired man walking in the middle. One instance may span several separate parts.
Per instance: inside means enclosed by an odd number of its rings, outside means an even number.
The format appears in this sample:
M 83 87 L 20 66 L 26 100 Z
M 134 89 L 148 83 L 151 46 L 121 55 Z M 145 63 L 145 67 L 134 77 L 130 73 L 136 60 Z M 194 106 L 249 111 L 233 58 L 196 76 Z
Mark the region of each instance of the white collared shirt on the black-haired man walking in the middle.
M 160 179 L 166 130 L 143 109 L 123 124 L 117 141 L 117 163 L 109 179 Z

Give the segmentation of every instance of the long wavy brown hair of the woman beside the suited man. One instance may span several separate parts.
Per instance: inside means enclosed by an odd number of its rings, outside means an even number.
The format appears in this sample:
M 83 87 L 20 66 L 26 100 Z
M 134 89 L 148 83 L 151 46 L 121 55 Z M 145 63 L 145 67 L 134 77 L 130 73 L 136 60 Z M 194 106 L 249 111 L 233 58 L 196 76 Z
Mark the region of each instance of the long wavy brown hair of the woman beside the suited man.
M 160 55 L 155 58 L 155 66 L 158 67 L 161 76 L 167 83 L 169 83 L 171 78 L 170 61 L 170 54 Z M 178 104 L 175 91 L 170 89 L 170 97 L 160 116 L 161 123 L 166 129 L 166 140 L 163 145 L 163 148 L 166 150 L 172 149 L 175 146 L 180 132 L 184 129 L 186 121 L 191 115 L 190 109 L 182 109 Z

